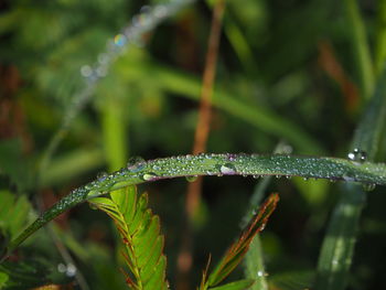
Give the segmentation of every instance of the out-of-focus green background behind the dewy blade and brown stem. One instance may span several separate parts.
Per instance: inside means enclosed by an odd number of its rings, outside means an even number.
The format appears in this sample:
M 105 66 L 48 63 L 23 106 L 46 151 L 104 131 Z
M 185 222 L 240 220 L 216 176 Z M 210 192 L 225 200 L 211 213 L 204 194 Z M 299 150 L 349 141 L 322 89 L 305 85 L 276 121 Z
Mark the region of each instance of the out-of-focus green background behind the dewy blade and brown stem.
M 346 155 L 366 95 L 347 2 L 226 1 L 208 152 L 271 153 L 283 140 L 296 154 Z M 156 3 L 162 1 L 0 1 L 2 244 L 36 216 L 36 201 L 46 207 L 98 173 L 125 167 L 130 157 L 192 151 L 212 15 L 204 1 L 169 18 L 116 60 L 37 181 L 51 138 L 85 87 L 81 67 L 96 63 L 106 42 L 141 7 Z M 358 4 L 376 55 L 379 8 L 376 1 Z M 385 160 L 385 152 L 384 147 L 377 161 Z M 256 183 L 251 178 L 204 179 L 192 284 L 208 254 L 217 260 L 237 236 Z M 151 207 L 161 217 L 173 287 L 186 181 L 139 190 L 150 193 Z M 339 186 L 275 180 L 268 189 L 274 191 L 281 202 L 261 235 L 267 271 L 272 289 L 300 289 L 315 268 Z M 386 198 L 378 192 L 385 189 L 368 195 L 349 289 L 386 288 Z M 103 213 L 78 206 L 61 216 L 54 230 L 90 289 L 125 289 L 117 235 Z M 63 261 L 51 235 L 43 229 L 33 236 L 19 250 L 18 267 L 39 262 L 49 273 L 45 281 L 69 283 L 74 278 L 60 270 Z

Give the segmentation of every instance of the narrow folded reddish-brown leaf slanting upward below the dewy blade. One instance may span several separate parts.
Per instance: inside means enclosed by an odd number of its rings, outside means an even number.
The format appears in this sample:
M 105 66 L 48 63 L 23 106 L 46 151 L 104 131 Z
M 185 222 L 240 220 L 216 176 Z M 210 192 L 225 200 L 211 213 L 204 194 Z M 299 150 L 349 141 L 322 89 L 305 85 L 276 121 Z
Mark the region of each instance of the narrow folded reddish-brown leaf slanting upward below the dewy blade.
M 267 198 L 267 201 L 261 205 L 260 210 L 250 221 L 246 229 L 242 233 L 238 240 L 230 246 L 230 248 L 226 251 L 225 256 L 219 261 L 217 267 L 208 276 L 208 280 L 206 283 L 208 287 L 217 286 L 242 261 L 249 248 L 253 238 L 266 226 L 266 223 L 271 213 L 275 211 L 278 201 L 279 195 L 271 194 Z

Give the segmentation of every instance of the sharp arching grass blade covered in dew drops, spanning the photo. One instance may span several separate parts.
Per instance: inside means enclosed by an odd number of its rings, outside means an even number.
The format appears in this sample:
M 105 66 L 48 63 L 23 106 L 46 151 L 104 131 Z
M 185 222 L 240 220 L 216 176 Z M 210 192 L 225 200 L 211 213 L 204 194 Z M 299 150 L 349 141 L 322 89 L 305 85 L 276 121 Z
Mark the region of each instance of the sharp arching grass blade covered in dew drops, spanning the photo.
M 71 192 L 8 246 L 13 250 L 25 238 L 63 212 L 86 200 L 144 182 L 194 175 L 285 175 L 386 185 L 386 164 L 352 162 L 339 158 L 259 154 L 181 155 L 129 164 Z

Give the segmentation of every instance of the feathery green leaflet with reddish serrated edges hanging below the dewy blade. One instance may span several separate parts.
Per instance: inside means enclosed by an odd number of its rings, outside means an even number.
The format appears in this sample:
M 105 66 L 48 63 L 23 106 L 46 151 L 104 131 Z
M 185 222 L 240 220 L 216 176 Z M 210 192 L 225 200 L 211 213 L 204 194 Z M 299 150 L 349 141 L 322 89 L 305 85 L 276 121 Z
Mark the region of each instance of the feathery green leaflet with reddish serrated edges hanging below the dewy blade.
M 125 260 L 130 270 L 127 282 L 133 289 L 168 289 L 165 257 L 160 221 L 148 208 L 148 195 L 137 197 L 135 186 L 90 201 L 115 222 L 124 241 Z

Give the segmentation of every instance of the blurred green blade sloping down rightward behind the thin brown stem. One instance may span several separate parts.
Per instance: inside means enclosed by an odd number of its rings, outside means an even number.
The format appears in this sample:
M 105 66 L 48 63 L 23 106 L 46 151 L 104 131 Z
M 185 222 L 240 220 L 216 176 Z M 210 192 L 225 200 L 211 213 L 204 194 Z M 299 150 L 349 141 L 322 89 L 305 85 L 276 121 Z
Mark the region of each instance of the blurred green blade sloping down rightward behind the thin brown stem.
M 122 58 L 122 62 L 117 67 L 119 74 L 136 82 L 149 82 L 149 77 L 151 77 L 151 82 L 158 82 L 161 88 L 174 93 L 176 96 L 199 99 L 201 92 L 201 80 L 199 78 L 162 65 L 146 62 L 146 60 L 141 60 L 141 69 L 137 69 L 137 65 L 133 62 L 129 57 Z M 157 78 L 153 76 L 157 76 Z M 221 87 L 221 84 L 217 87 Z M 214 92 L 213 105 L 257 127 L 259 130 L 286 138 L 301 153 L 315 154 L 325 151 L 317 140 L 297 123 L 267 107 L 247 104 L 225 89 L 216 89 Z

